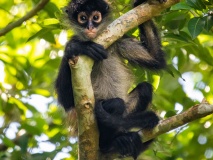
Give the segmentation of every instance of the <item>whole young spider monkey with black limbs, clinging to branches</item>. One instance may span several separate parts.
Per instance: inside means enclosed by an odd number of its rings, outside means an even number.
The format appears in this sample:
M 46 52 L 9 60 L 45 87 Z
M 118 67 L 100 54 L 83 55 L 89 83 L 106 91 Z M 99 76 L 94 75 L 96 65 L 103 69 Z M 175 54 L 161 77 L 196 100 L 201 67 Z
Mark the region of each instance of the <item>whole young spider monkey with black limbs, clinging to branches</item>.
M 158 0 L 162 1 L 162 0 Z M 146 0 L 134 0 L 134 7 Z M 152 140 L 142 143 L 139 131 L 132 128 L 152 129 L 159 118 L 148 111 L 152 101 L 152 86 L 138 84 L 129 94 L 134 76 L 129 64 L 151 70 L 166 66 L 157 29 L 152 20 L 139 25 L 140 41 L 122 37 L 108 49 L 92 40 L 111 20 L 110 7 L 104 0 L 72 0 L 66 14 L 75 31 L 65 47 L 55 89 L 59 103 L 66 111 L 74 108 L 71 72 L 68 60 L 79 54 L 94 59 L 91 81 L 95 95 L 95 115 L 100 132 L 99 148 L 103 153 L 120 153 L 137 158 Z

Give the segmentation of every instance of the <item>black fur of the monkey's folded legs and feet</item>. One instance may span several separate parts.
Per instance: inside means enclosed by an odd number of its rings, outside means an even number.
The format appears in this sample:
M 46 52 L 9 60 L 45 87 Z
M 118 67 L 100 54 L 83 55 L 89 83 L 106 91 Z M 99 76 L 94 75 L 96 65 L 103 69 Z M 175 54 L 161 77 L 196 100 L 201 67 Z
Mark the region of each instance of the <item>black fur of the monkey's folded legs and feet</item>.
M 137 132 L 129 132 L 131 128 L 152 129 L 159 121 L 154 112 L 145 111 L 152 100 L 151 85 L 143 82 L 135 90 L 140 92 L 138 104 L 135 110 L 127 115 L 124 114 L 125 102 L 120 98 L 100 100 L 95 105 L 100 131 L 99 146 L 103 153 L 119 152 L 136 159 L 152 142 L 150 140 L 142 143 Z

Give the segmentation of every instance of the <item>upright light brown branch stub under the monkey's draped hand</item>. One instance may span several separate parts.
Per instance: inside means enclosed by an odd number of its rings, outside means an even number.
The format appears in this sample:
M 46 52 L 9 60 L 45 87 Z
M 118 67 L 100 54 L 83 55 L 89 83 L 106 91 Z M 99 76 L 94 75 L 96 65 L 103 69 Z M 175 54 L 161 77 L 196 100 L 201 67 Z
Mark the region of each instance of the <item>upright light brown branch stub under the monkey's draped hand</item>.
M 98 160 L 99 132 L 93 114 L 95 99 L 90 78 L 93 63 L 92 59 L 84 55 L 69 60 L 75 110 L 78 117 L 78 156 L 80 160 Z

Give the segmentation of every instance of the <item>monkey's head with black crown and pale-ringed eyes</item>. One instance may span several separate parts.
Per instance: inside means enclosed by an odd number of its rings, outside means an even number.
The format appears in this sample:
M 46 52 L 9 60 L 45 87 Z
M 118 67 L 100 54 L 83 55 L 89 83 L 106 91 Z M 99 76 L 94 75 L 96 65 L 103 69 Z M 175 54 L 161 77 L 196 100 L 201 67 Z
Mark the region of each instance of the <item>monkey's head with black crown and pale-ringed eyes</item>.
M 93 39 L 105 24 L 109 5 L 104 0 L 72 0 L 66 13 L 78 36 Z

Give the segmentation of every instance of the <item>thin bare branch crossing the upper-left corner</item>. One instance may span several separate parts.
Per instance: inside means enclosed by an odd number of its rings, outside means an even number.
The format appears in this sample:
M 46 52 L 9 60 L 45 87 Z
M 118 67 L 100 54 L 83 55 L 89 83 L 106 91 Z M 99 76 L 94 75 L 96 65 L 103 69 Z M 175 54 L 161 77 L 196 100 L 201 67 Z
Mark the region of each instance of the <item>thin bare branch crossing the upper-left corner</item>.
M 24 17 L 18 19 L 15 22 L 12 22 L 8 24 L 5 28 L 0 30 L 0 37 L 10 32 L 12 29 L 20 26 L 24 21 L 32 18 L 34 15 L 36 15 L 40 10 L 44 8 L 44 6 L 49 2 L 50 0 L 41 0 L 31 11 L 29 11 Z

